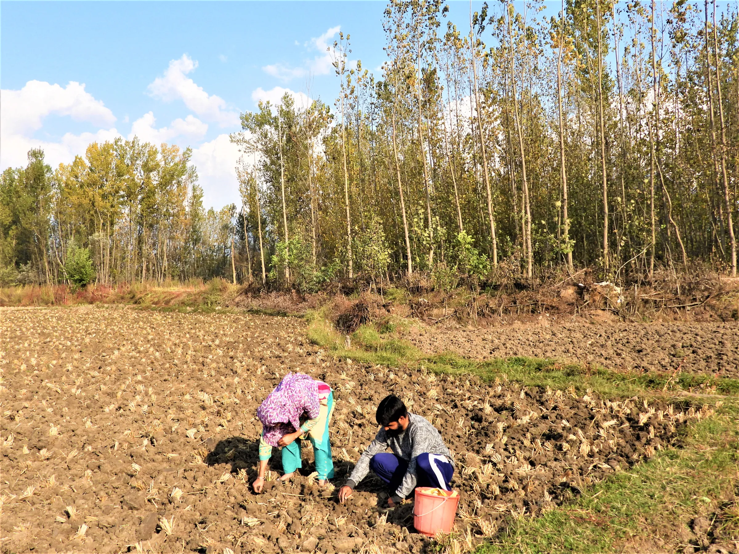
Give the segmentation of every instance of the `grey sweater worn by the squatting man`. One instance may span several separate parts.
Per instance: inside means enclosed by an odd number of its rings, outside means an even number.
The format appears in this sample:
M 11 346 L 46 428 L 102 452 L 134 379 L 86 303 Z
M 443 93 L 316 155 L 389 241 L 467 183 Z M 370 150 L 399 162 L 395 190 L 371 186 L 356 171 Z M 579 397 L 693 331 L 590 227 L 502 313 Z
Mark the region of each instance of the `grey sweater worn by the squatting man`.
M 358 482 L 364 479 L 369 472 L 369 460 L 372 456 L 386 451 L 389 447 L 395 456 L 402 458 L 408 462 L 408 470 L 403 476 L 403 482 L 398 490 L 395 491 L 396 496 L 405 498 L 416 485 L 416 458 L 419 454 L 428 452 L 429 454 L 440 454 L 446 456 L 449 462 L 454 465 L 452 456 L 449 454 L 449 448 L 446 448 L 439 431 L 426 420 L 425 417 L 418 414 L 409 414 L 410 423 L 403 433 L 399 435 L 389 435 L 384 429 L 378 431 L 375 440 L 369 443 L 359 461 L 354 466 L 354 471 L 347 481 L 347 485 L 355 488 Z

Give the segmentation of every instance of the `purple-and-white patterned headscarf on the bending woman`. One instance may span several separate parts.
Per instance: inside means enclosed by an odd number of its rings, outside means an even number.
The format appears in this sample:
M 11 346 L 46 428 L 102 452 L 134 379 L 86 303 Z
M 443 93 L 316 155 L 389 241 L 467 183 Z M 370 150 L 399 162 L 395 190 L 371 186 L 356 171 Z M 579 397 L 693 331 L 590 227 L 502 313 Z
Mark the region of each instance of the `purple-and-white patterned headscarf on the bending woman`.
M 300 417 L 309 420 L 319 417 L 319 383 L 302 373 L 288 373 L 270 392 L 256 416 L 264 425 L 264 439 L 268 445 L 277 442 L 300 427 Z

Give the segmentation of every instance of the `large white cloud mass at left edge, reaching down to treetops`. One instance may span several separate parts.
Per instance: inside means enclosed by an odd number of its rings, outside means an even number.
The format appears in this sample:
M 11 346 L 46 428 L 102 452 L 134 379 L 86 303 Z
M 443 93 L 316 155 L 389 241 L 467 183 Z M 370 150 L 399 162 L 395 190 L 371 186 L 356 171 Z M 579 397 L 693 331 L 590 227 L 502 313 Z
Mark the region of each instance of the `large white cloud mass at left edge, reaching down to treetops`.
M 111 126 L 95 133 L 67 133 L 58 142 L 33 138 L 44 117 L 51 114 L 72 117 L 96 126 Z M 115 115 L 101 100 L 86 92 L 84 83 L 71 81 L 62 88 L 44 81 L 28 81 L 20 90 L 0 91 L 0 167 L 26 165 L 31 148 L 43 148 L 52 167 L 71 162 L 84 154 L 89 143 L 113 140 L 120 133 L 112 127 Z

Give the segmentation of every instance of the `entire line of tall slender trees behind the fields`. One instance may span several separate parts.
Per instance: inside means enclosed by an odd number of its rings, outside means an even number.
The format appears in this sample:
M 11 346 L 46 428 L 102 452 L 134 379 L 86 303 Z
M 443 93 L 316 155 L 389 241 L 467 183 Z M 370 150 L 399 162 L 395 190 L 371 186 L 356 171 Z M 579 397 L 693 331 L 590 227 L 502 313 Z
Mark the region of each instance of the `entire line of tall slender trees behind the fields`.
M 441 0 L 392 0 L 383 24 L 381 75 L 349 35 L 330 48 L 333 106 L 242 114 L 239 207 L 204 210 L 188 150 L 117 140 L 55 171 L 32 151 L 2 175 L 2 266 L 58 281 L 78 244 L 103 283 L 735 275 L 736 11 L 501 2 L 457 27 Z

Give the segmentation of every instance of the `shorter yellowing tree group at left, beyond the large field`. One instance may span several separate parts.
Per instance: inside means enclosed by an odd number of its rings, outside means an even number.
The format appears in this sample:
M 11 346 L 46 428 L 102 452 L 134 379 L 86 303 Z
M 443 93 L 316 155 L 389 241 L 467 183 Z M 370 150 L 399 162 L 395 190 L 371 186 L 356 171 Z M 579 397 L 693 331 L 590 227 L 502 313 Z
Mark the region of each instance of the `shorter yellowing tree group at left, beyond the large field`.
M 236 207 L 205 211 L 190 155 L 117 139 L 52 170 L 30 151 L 0 177 L 3 281 L 75 281 L 69 244 L 98 284 L 227 275 Z

